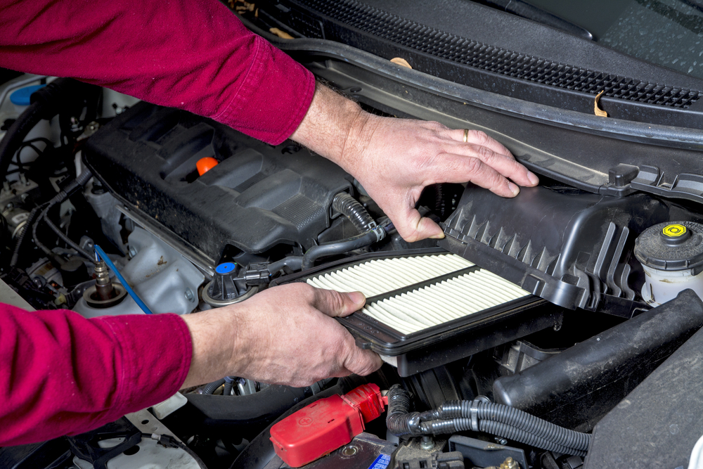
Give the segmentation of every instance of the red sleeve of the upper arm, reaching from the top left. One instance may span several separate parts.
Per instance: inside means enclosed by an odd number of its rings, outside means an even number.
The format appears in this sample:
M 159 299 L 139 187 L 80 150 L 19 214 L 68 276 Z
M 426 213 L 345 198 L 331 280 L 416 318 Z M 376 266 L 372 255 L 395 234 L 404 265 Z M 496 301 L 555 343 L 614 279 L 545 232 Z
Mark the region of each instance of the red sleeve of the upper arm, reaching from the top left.
M 217 0 L 0 0 L 0 66 L 75 77 L 278 144 L 315 83 Z

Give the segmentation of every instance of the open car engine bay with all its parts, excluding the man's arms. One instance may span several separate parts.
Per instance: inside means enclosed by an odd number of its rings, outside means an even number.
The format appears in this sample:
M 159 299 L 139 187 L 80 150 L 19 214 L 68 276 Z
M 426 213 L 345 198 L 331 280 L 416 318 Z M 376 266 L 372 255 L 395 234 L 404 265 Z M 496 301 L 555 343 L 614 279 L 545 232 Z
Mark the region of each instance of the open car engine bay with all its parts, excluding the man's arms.
M 349 70 L 327 72 L 352 89 Z M 703 217 L 695 198 L 640 191 L 656 186 L 644 165 L 593 184 L 536 165 L 541 184 L 515 199 L 428 186 L 418 210 L 445 238 L 407 243 L 307 148 L 121 99 L 70 88 L 53 134 L 22 139 L 0 193 L 4 283 L 89 318 L 198 314 L 290 283 L 359 290 L 366 306 L 338 321 L 385 364 L 303 388 L 222 377 L 86 435 L 0 449 L 3 467 L 688 463 L 703 433 Z

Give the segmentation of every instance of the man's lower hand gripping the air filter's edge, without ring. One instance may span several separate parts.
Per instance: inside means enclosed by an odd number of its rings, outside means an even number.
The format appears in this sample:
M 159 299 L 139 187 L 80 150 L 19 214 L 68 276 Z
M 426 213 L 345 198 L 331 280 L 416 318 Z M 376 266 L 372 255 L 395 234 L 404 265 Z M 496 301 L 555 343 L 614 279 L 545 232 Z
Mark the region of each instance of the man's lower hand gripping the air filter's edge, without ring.
M 359 292 L 294 283 L 229 307 L 187 314 L 193 361 L 183 387 L 226 375 L 295 387 L 332 376 L 368 375 L 380 368 L 380 357 L 356 347 L 333 319 L 352 314 L 364 302 Z

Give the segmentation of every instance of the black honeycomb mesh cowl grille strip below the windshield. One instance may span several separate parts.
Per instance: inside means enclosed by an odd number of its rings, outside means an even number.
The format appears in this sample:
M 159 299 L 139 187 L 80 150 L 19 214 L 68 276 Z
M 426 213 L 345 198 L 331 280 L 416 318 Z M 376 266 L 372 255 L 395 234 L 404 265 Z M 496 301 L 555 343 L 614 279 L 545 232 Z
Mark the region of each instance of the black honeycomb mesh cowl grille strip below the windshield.
M 515 79 L 591 94 L 605 90 L 605 96 L 673 108 L 688 108 L 701 96 L 701 93 L 695 90 L 586 70 L 489 46 L 401 18 L 355 0 L 297 0 L 297 3 L 344 25 L 400 46 Z M 298 19 L 302 22 L 307 18 L 306 15 L 298 15 L 300 18 L 296 18 L 295 13 L 291 13 L 294 23 L 298 23 Z M 299 25 L 302 26 L 299 32 L 307 37 L 323 37 L 320 30 L 307 24 L 309 21 L 305 23 Z

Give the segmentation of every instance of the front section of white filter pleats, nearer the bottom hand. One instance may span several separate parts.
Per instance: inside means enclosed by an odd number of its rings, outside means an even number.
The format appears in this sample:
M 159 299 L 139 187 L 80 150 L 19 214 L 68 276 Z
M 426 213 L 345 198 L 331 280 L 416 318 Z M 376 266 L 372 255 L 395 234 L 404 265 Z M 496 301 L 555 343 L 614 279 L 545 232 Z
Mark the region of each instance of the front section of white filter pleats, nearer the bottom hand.
M 371 302 L 361 312 L 410 334 L 528 295 L 496 274 L 477 270 Z

